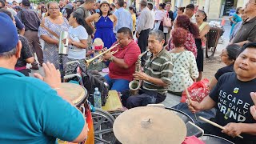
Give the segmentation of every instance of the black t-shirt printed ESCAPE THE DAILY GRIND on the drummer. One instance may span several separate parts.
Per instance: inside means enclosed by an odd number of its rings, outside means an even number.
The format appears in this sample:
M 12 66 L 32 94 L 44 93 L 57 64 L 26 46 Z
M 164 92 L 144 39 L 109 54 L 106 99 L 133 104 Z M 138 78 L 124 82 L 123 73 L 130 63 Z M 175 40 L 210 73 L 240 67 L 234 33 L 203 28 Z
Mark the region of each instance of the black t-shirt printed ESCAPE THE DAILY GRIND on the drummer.
M 210 92 L 210 98 L 217 102 L 215 122 L 226 126 L 230 122 L 255 123 L 250 114 L 254 105 L 250 92 L 256 91 L 256 78 L 249 82 L 238 80 L 234 72 L 223 74 Z M 255 135 L 242 134 L 246 139 L 255 140 Z

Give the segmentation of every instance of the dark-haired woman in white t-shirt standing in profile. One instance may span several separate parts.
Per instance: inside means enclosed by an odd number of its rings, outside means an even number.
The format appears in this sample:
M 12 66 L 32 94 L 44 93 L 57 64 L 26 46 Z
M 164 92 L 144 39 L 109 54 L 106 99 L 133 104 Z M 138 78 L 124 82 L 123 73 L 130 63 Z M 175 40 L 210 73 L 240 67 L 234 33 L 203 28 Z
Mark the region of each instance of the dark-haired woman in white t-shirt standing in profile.
M 78 61 L 80 62 L 80 66 L 86 67 L 86 48 L 88 47 L 88 33 L 84 28 L 86 22 L 81 14 L 73 12 L 70 14 L 69 24 L 69 50 L 67 61 Z M 77 63 L 67 65 L 66 74 L 73 74 L 76 67 Z

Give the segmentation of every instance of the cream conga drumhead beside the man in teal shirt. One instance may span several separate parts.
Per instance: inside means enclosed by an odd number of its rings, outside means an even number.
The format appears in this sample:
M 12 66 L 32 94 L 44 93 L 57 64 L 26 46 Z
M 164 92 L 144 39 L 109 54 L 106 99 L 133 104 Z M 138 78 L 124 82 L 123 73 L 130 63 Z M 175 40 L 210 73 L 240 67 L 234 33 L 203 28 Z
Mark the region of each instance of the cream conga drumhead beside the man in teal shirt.
M 64 91 L 64 94 L 70 98 L 75 106 L 80 105 L 86 98 L 86 89 L 78 84 L 64 82 L 61 84 L 61 89 Z

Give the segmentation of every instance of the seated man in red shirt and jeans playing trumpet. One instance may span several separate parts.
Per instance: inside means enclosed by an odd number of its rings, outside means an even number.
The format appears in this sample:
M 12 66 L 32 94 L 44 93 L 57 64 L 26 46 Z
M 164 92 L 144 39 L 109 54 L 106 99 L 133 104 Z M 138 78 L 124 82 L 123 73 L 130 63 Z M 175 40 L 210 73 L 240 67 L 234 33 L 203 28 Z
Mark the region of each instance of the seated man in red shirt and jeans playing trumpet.
M 110 61 L 110 73 L 106 74 L 105 78 L 110 90 L 122 92 L 129 90 L 129 82 L 134 79 L 135 62 L 138 55 L 141 54 L 141 50 L 134 42 L 133 34 L 129 28 L 122 27 L 116 36 L 118 46 L 111 51 L 118 51 L 113 55 L 110 52 L 103 55 L 105 60 Z

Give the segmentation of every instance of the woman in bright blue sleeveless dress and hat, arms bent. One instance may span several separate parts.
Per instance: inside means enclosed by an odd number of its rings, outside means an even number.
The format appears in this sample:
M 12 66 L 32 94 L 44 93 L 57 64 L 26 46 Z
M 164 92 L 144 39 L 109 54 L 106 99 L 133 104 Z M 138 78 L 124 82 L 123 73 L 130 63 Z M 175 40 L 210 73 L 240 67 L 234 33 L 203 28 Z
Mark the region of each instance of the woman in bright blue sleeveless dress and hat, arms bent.
M 114 35 L 114 26 L 118 22 L 118 18 L 110 13 L 108 2 L 102 1 L 99 5 L 99 13 L 87 17 L 86 22 L 94 30 L 94 38 L 101 38 L 105 47 L 110 48 L 117 41 Z M 95 22 L 96 29 L 91 22 Z

